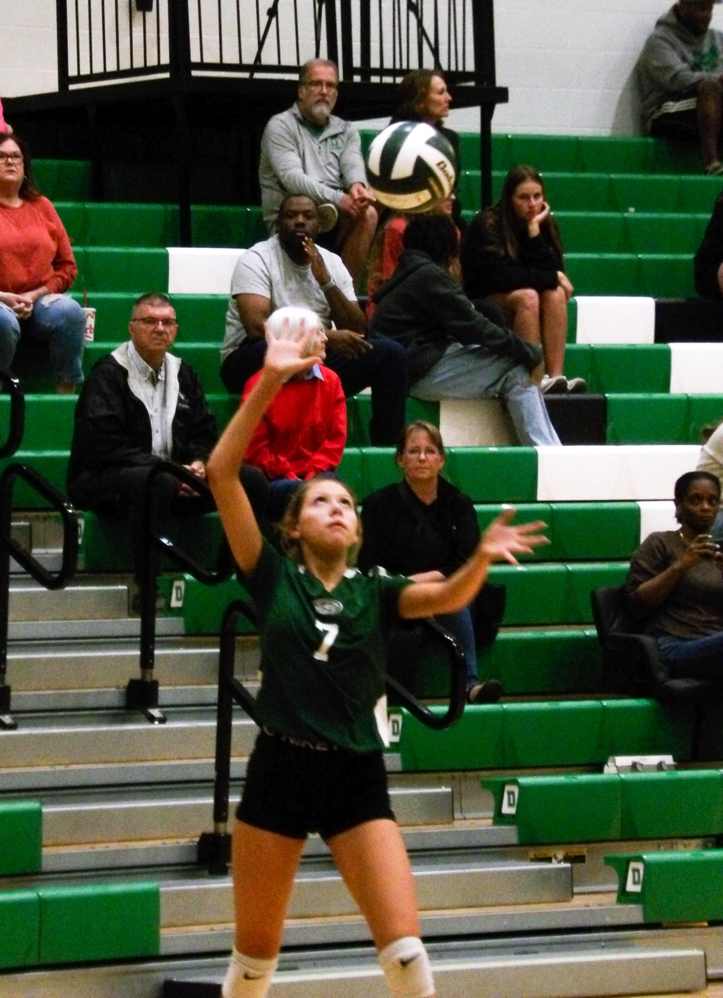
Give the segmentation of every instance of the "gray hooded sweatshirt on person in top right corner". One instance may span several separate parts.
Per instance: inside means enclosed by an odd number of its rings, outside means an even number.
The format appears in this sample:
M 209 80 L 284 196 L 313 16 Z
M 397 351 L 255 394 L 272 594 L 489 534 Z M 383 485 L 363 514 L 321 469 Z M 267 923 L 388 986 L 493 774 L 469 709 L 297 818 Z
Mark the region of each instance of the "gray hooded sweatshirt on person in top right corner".
M 675 6 L 658 18 L 637 63 L 637 80 L 647 129 L 666 101 L 694 98 L 701 80 L 723 73 L 723 32 L 694 35 L 677 18 Z M 694 105 L 691 105 L 691 107 Z

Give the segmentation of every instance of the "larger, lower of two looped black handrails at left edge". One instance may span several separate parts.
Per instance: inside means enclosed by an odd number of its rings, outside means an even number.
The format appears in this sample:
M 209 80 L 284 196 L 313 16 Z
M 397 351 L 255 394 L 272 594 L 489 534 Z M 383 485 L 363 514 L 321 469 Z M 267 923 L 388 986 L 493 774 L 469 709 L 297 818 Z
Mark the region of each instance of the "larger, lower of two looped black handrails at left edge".
M 18 478 L 41 495 L 60 513 L 63 520 L 63 553 L 58 572 L 49 572 L 15 538 L 10 536 L 12 523 L 13 489 Z M 8 616 L 10 607 L 10 560 L 45 589 L 62 589 L 75 575 L 78 565 L 78 515 L 69 500 L 34 468 L 9 464 L 0 475 L 0 728 L 14 729 L 17 724 L 10 717 L 10 687 L 6 683 L 8 664 Z

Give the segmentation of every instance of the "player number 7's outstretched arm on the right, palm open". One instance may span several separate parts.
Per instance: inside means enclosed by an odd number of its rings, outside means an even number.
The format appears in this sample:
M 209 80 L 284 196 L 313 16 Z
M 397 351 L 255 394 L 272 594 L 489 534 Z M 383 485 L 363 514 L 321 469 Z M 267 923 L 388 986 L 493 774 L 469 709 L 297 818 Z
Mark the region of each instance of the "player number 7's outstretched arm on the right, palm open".
M 511 526 L 514 516 L 515 510 L 511 508 L 493 520 L 472 557 L 449 579 L 419 582 L 403 589 L 399 594 L 399 616 L 409 620 L 456 613 L 480 592 L 493 562 L 508 561 L 517 565 L 516 555 L 531 554 L 539 544 L 548 543 L 540 533 L 544 527 L 542 520 Z

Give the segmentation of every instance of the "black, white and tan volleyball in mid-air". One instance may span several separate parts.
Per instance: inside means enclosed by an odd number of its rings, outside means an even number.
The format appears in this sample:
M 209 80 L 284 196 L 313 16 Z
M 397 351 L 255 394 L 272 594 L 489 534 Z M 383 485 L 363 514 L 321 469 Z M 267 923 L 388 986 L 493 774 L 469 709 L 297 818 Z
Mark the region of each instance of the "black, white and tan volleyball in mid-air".
M 448 139 L 425 122 L 395 122 L 372 140 L 367 180 L 394 212 L 429 212 L 452 194 L 457 157 Z

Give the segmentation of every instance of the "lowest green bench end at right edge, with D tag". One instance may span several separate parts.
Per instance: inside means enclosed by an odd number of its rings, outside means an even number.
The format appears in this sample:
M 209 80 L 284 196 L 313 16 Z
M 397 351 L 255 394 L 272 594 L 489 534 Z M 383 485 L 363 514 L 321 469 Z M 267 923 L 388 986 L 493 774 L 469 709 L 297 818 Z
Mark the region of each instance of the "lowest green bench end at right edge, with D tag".
M 723 850 L 605 856 L 617 873 L 617 903 L 639 904 L 646 922 L 723 919 Z

